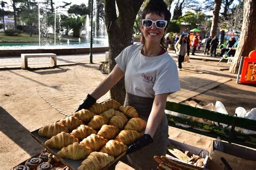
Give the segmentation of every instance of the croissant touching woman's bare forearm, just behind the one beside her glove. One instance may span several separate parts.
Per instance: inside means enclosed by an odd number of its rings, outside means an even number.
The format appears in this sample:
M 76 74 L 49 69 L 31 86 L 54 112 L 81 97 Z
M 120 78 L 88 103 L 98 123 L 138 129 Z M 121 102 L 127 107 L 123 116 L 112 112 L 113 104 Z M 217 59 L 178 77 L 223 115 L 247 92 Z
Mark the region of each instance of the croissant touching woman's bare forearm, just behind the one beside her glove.
M 131 118 L 124 126 L 125 130 L 136 130 L 137 132 L 143 131 L 146 128 L 147 122 L 142 118 Z

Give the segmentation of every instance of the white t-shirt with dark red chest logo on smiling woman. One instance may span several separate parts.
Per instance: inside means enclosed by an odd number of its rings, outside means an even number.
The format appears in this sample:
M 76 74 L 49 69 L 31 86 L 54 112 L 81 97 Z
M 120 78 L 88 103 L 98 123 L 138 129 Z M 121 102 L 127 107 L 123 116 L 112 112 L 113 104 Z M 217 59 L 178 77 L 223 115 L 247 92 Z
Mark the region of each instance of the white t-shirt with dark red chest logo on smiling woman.
M 158 56 L 142 55 L 142 45 L 126 47 L 117 57 L 118 67 L 125 73 L 127 93 L 151 97 L 180 90 L 176 63 L 166 52 Z

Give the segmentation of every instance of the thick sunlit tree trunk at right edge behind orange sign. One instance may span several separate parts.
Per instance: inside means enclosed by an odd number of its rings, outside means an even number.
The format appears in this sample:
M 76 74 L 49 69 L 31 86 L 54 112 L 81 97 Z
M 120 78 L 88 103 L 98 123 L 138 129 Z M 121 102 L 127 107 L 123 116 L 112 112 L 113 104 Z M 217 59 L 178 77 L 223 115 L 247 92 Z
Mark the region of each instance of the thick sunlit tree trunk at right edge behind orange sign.
M 255 0 L 244 1 L 244 14 L 242 29 L 237 51 L 230 66 L 230 73 L 237 73 L 241 56 L 248 56 L 256 47 L 256 2 Z

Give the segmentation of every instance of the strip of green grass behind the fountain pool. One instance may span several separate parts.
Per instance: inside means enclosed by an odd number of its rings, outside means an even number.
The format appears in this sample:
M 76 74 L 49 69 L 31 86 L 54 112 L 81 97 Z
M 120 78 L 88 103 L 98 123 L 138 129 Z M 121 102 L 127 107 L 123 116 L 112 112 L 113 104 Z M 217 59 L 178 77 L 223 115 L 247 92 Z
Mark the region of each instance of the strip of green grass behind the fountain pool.
M 73 37 L 72 35 L 62 35 L 62 38 L 68 38 L 73 40 L 78 40 L 78 38 Z M 50 39 L 54 40 L 54 35 L 50 34 Z M 57 39 L 57 38 L 56 38 Z M 80 37 L 81 40 L 84 40 L 83 37 Z M 38 34 L 32 34 L 30 37 L 29 33 L 21 33 L 18 36 L 5 36 L 3 32 L 0 32 L 0 41 L 38 41 Z

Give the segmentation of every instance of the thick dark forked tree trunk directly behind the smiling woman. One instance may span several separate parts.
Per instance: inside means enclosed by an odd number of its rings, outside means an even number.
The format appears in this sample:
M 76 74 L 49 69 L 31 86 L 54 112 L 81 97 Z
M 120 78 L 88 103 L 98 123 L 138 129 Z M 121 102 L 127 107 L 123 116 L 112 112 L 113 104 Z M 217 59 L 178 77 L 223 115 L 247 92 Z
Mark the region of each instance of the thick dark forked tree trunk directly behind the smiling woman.
M 105 24 L 109 36 L 110 72 L 116 65 L 114 58 L 130 45 L 132 26 L 142 5 L 142 0 L 117 0 L 119 15 L 117 17 L 116 4 L 113 0 L 105 0 Z M 124 78 L 111 90 L 111 98 L 123 104 L 125 99 Z

